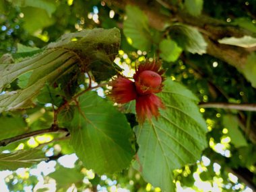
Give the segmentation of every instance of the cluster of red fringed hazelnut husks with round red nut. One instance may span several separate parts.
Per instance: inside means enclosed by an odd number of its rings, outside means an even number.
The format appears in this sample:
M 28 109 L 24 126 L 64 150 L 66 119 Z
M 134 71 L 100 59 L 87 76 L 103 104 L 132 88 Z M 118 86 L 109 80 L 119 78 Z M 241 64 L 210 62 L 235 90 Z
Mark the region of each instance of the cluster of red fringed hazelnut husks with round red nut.
M 135 99 L 137 121 L 143 124 L 146 119 L 158 117 L 159 108 L 164 108 L 161 99 L 154 94 L 162 91 L 163 74 L 160 62 L 146 60 L 136 69 L 133 75 L 134 82 L 126 77 L 114 79 L 110 97 L 116 103 L 127 103 Z

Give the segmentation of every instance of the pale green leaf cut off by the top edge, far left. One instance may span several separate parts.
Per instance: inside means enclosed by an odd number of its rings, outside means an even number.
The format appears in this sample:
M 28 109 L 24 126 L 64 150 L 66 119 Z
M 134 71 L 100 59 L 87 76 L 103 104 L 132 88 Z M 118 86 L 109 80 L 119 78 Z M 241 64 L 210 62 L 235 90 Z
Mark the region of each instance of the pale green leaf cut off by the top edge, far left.
M 51 17 L 52 13 L 55 12 L 56 6 L 55 3 L 47 0 L 10 0 L 11 3 L 15 6 L 19 7 L 36 7 L 40 9 L 44 9 L 49 17 Z

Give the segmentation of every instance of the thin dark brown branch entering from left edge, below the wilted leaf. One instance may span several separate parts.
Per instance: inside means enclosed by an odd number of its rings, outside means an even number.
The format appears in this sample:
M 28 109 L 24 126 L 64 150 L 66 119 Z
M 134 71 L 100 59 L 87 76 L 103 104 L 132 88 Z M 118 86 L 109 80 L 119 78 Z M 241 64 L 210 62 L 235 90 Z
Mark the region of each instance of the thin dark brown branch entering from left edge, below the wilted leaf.
M 64 132 L 66 134 L 69 134 L 69 131 L 66 128 L 59 128 L 56 126 L 51 126 L 51 128 L 48 129 L 44 129 L 44 130 L 36 130 L 34 132 L 29 132 L 26 134 L 22 134 L 19 136 L 14 136 L 12 138 L 7 138 L 4 140 L 0 141 L 0 146 L 7 146 L 7 144 L 13 143 L 13 142 L 17 142 L 20 140 L 24 140 L 26 138 L 30 138 L 32 136 L 38 136 L 38 135 L 42 135 L 42 134 L 46 134 L 46 133 L 58 133 L 58 132 Z

